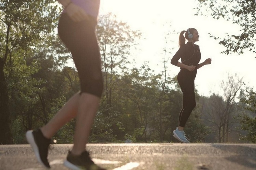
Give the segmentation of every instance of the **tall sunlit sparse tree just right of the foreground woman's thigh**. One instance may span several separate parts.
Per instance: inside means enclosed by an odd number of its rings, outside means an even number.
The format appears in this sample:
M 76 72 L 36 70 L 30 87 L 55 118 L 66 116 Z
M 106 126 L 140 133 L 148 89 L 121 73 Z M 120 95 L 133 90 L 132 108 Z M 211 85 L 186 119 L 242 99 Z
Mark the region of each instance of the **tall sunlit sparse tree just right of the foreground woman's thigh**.
M 116 16 L 109 13 L 99 17 L 97 36 L 103 61 L 103 78 L 106 104 L 112 105 L 114 74 L 122 72 L 129 62 L 126 60 L 130 48 L 140 38 L 139 31 L 132 31 L 127 23 L 117 21 Z

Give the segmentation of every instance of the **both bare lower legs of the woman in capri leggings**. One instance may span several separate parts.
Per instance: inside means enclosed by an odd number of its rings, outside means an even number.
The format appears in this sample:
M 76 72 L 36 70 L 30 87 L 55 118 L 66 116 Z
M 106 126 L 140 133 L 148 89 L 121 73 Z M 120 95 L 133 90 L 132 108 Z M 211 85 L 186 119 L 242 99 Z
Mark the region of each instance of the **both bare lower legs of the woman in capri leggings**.
M 75 94 L 45 126 L 41 128 L 46 138 L 51 138 L 65 123 L 76 116 L 76 128 L 72 153 L 80 155 L 88 141 L 91 126 L 99 106 L 100 98 L 87 94 Z

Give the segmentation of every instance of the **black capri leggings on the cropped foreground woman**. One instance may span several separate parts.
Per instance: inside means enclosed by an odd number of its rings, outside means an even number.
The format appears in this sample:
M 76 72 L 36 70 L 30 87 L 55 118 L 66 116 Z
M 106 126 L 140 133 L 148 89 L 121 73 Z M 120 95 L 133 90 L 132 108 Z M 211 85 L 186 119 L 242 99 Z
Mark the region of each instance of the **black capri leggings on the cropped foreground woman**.
M 63 13 L 58 24 L 59 37 L 69 49 L 74 60 L 82 93 L 101 97 L 103 80 L 101 58 L 95 34 L 97 21 L 93 17 L 74 22 Z

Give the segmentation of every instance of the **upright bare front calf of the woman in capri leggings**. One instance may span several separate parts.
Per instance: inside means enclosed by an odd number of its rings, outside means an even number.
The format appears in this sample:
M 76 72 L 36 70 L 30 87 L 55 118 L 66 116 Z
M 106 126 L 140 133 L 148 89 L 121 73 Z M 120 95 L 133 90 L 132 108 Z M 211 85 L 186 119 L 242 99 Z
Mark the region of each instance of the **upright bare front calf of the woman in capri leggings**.
M 88 141 L 88 136 L 94 122 L 99 102 L 100 98 L 95 95 L 87 93 L 82 93 L 80 95 L 77 107 L 74 146 L 71 150 L 74 155 L 80 155 L 85 151 L 85 146 Z

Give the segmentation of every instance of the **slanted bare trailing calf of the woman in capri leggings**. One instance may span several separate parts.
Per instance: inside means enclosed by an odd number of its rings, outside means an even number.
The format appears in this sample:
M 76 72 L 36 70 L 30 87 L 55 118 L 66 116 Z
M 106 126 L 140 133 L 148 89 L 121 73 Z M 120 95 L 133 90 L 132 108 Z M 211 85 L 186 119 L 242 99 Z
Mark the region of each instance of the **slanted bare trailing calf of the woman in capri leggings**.
M 68 102 L 60 109 L 60 111 L 45 126 L 41 128 L 41 131 L 46 138 L 52 138 L 52 136 L 64 124 L 76 116 L 79 98 L 79 93 L 72 96 Z

